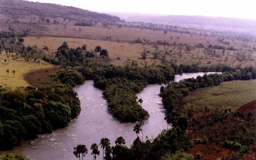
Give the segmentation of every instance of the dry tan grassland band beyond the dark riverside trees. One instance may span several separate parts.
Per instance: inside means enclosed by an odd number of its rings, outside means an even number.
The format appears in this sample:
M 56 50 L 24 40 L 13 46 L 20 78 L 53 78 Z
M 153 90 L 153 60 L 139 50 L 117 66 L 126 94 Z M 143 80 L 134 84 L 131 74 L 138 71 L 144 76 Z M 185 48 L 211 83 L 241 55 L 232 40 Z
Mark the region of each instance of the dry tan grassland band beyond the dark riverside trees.
M 129 42 L 116 42 L 116 41 L 106 41 L 106 40 L 90 40 L 83 38 L 68 38 L 68 37 L 25 37 L 24 38 L 25 46 L 37 45 L 39 49 L 43 49 L 45 46 L 49 48 L 49 51 L 44 53 L 49 56 L 54 56 L 54 52 L 57 51 L 57 48 L 66 41 L 69 48 L 82 47 L 83 44 L 87 44 L 89 50 L 94 50 L 96 46 L 101 46 L 102 49 L 107 49 L 109 52 L 109 57 L 112 59 L 111 63 L 114 65 L 126 65 L 131 64 L 132 60 L 138 62 L 138 65 L 144 66 L 151 64 L 161 63 L 161 55 L 158 59 L 154 59 L 153 55 L 150 52 L 154 51 L 155 48 L 152 45 L 142 45 L 134 44 Z M 149 51 L 148 57 L 146 60 L 141 59 L 140 53 L 146 49 Z M 162 55 L 166 56 L 166 60 L 177 60 L 177 64 L 199 64 L 203 66 L 210 66 L 212 64 L 225 63 L 231 66 L 241 65 L 245 66 L 254 66 L 255 65 L 255 54 L 244 53 L 245 58 L 248 60 L 239 61 L 236 59 L 236 52 L 226 51 L 225 54 L 222 54 L 222 50 L 216 50 L 215 55 L 208 55 L 204 53 L 204 49 L 196 48 L 195 51 L 185 52 L 183 49 L 180 50 L 173 46 L 159 46 L 159 51 L 161 53 L 167 51 L 168 54 L 163 53 Z M 173 50 L 170 52 L 170 50 Z M 98 53 L 99 54 L 99 53 Z M 117 60 L 117 57 L 120 60 Z M 228 59 L 225 59 L 228 57 Z M 250 58 L 249 58 L 250 57 Z

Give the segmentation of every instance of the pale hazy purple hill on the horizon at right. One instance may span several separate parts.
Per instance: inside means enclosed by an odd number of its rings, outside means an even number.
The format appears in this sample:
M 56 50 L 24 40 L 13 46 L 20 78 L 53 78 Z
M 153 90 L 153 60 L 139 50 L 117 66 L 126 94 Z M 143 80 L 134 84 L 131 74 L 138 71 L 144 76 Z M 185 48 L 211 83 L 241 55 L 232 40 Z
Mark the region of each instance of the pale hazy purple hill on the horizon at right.
M 154 24 L 167 24 L 182 27 L 196 27 L 204 29 L 213 29 L 217 31 L 240 32 L 250 36 L 255 36 L 255 20 L 209 17 L 209 16 L 185 16 L 185 15 L 157 15 L 141 13 L 116 13 L 116 15 L 125 21 L 148 22 Z

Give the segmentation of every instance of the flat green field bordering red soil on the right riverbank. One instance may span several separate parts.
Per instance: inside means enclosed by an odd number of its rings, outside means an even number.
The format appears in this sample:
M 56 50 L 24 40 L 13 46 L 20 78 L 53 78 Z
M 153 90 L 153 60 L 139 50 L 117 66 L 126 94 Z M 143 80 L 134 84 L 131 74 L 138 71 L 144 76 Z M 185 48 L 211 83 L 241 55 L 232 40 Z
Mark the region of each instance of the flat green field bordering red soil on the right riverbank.
M 256 99 L 256 81 L 230 81 L 219 86 L 201 88 L 190 92 L 185 98 L 186 102 L 204 108 L 231 108 L 235 111 L 240 106 Z

